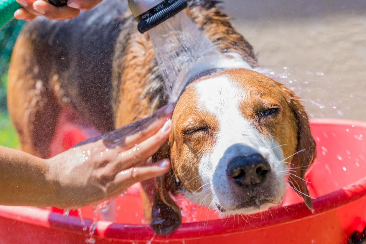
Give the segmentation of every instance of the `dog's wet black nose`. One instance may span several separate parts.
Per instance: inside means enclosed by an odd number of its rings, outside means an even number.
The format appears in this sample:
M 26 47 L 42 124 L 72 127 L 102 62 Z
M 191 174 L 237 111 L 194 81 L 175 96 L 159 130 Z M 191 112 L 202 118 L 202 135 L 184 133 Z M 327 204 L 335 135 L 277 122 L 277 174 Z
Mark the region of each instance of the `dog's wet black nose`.
M 256 185 L 265 181 L 270 170 L 268 161 L 259 153 L 244 155 L 229 161 L 226 173 L 238 185 Z

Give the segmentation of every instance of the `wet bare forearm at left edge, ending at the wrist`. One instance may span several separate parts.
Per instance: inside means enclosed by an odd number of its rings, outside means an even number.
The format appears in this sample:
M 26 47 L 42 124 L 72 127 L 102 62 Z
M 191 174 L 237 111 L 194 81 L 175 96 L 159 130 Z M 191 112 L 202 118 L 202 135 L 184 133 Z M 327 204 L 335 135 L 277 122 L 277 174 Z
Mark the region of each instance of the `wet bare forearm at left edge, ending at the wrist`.
M 0 146 L 1 205 L 55 205 L 55 178 L 47 160 Z

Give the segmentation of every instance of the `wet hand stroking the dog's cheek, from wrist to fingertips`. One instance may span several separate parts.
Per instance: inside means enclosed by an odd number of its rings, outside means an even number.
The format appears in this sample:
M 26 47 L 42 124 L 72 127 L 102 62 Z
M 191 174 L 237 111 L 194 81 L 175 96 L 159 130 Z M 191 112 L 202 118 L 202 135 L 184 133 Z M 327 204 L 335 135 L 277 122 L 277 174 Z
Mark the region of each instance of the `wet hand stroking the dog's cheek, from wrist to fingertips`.
M 60 184 L 55 187 L 60 199 L 56 206 L 96 204 L 122 194 L 139 181 L 168 172 L 169 159 L 152 164 L 151 156 L 168 139 L 173 109 L 169 104 L 146 119 L 48 159 L 50 177 Z

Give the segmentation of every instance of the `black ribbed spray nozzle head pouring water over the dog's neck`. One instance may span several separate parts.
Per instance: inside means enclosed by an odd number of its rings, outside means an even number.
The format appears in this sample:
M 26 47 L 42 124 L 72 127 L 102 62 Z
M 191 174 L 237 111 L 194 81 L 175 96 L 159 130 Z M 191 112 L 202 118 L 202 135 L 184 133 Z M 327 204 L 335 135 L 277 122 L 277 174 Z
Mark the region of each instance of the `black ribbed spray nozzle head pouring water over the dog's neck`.
M 139 22 L 137 25 L 138 31 L 144 33 L 157 25 L 160 25 L 165 20 L 178 14 L 187 7 L 186 0 L 165 0 L 156 7 L 146 11 L 145 13 L 136 17 Z

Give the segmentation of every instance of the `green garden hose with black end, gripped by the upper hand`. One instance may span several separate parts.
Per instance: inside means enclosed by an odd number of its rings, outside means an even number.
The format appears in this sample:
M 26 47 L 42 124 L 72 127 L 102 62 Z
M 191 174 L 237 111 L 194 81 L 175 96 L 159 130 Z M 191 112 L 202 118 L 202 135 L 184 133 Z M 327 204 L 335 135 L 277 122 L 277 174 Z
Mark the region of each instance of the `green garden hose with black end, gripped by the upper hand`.
M 57 7 L 66 5 L 67 0 L 48 0 Z M 0 0 L 0 30 L 14 18 L 14 12 L 22 6 L 16 0 Z

